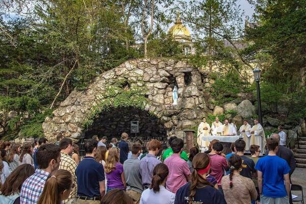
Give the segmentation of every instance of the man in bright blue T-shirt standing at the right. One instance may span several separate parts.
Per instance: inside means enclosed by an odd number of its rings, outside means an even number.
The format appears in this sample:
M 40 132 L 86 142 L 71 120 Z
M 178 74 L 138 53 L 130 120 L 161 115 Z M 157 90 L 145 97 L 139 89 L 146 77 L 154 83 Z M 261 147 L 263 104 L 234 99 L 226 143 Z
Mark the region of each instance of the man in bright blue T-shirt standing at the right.
M 278 141 L 267 139 L 269 154 L 258 160 L 258 188 L 262 204 L 289 203 L 290 167 L 286 160 L 276 156 Z

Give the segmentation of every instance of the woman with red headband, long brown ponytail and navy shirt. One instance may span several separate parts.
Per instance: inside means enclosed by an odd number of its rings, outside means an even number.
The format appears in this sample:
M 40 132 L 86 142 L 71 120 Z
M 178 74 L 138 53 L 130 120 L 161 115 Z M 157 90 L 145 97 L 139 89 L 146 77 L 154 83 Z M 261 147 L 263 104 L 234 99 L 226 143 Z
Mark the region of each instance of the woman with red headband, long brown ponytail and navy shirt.
M 192 160 L 191 182 L 182 186 L 175 195 L 174 204 L 225 204 L 222 193 L 207 180 L 210 172 L 210 157 L 199 153 Z

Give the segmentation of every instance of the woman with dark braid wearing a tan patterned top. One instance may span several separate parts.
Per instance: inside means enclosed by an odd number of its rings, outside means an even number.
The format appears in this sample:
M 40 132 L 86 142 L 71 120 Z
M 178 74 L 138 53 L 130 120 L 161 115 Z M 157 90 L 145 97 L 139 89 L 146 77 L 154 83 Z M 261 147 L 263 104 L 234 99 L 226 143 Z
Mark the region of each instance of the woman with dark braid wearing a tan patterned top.
M 242 160 L 238 155 L 228 159 L 230 175 L 223 176 L 222 189 L 227 204 L 251 203 L 257 199 L 257 191 L 251 179 L 240 175 Z

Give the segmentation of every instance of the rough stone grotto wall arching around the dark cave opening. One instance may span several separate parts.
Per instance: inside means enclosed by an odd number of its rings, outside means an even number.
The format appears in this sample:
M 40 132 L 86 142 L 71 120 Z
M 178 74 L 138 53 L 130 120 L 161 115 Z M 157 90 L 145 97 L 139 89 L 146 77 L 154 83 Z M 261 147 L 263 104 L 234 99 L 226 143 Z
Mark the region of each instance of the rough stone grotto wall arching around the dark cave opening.
M 185 73 L 191 81 L 186 85 Z M 186 77 L 185 77 L 186 78 Z M 147 103 L 143 111 L 154 115 L 167 130 L 167 136 L 179 135 L 187 127 L 197 125 L 209 112 L 203 97 L 204 86 L 198 69 L 173 59 L 130 60 L 96 77 L 86 90 L 73 90 L 47 117 L 42 125 L 45 136 L 54 141 L 63 133 L 74 141 L 84 138 L 84 121 L 101 101 L 108 87 L 124 82 L 122 88 L 144 88 Z M 173 105 L 172 90 L 177 86 L 179 98 Z M 99 117 L 97 115 L 97 117 Z

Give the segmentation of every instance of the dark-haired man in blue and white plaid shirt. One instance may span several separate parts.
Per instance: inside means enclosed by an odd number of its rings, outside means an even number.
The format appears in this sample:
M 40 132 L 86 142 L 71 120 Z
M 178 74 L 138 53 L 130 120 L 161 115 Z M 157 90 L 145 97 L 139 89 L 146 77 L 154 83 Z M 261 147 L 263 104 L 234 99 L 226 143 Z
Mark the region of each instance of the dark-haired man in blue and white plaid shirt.
M 61 149 L 55 144 L 43 144 L 38 147 L 36 152 L 38 168 L 21 186 L 21 204 L 37 203 L 48 175 L 59 168 L 61 162 L 60 151 Z

